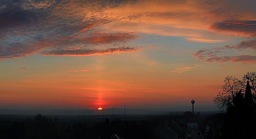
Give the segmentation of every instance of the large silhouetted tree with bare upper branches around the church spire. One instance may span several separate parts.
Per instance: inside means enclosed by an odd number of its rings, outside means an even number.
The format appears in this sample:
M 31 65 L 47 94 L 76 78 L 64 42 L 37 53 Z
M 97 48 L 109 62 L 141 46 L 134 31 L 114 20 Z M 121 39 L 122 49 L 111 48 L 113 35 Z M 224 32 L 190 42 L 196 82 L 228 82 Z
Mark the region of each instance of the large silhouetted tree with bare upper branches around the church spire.
M 220 108 L 227 110 L 222 131 L 223 139 L 256 137 L 255 79 L 255 72 L 245 74 L 243 80 L 233 76 L 225 78 L 223 91 L 219 92 L 214 100 Z

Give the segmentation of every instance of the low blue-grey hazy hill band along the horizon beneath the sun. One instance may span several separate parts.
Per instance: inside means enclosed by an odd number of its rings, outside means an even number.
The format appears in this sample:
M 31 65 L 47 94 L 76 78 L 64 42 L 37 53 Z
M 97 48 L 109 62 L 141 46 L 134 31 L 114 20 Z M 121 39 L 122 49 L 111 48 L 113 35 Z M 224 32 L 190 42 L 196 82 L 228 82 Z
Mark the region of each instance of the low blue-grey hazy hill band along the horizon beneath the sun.
M 126 109 L 126 114 L 169 114 L 176 113 L 182 114 L 182 112 L 191 111 L 191 107 L 167 107 L 158 109 Z M 201 114 L 217 113 L 219 110 L 215 106 L 208 107 L 196 107 L 195 112 L 201 112 Z M 43 110 L 43 109 L 31 109 L 31 110 L 18 110 L 18 109 L 0 109 L 0 114 L 22 114 L 22 115 L 102 115 L 103 110 Z M 105 115 L 111 115 L 112 109 L 105 109 Z M 113 108 L 113 114 L 124 114 L 124 109 Z

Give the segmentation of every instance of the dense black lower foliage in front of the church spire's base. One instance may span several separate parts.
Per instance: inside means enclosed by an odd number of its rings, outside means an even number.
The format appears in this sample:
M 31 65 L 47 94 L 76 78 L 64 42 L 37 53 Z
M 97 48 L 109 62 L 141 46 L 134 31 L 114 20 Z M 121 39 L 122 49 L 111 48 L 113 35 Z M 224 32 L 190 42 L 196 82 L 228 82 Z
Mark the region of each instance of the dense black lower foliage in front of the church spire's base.
M 222 131 L 223 139 L 254 139 L 256 111 L 248 106 L 241 91 L 234 98 L 234 105 L 227 107 L 227 115 Z

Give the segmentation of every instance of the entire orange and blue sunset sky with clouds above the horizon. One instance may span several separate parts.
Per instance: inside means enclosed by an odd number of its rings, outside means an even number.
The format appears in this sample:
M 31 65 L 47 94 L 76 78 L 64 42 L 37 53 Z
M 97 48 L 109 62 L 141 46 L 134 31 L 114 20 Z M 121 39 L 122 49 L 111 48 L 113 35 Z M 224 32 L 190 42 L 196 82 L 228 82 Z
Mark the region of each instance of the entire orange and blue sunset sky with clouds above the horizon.
M 0 108 L 215 105 L 256 71 L 255 0 L 1 0 Z

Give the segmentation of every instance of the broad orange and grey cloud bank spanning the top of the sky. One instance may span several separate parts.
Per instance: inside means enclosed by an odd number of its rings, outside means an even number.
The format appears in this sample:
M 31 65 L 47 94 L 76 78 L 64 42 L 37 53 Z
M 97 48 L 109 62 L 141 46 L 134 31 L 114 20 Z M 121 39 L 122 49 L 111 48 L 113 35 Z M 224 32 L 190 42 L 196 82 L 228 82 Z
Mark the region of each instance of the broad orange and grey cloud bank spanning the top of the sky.
M 248 7 L 254 3 L 254 0 L 240 4 L 226 0 L 2 0 L 0 59 L 34 54 L 113 54 L 118 52 L 113 50 L 118 49 L 113 44 L 125 45 L 139 39 L 138 34 L 179 36 L 203 43 L 225 40 L 210 37 L 209 32 L 254 37 L 256 21 L 249 19 L 256 17 L 250 14 L 254 7 Z M 230 6 L 233 8 L 226 8 Z M 239 6 L 247 8 L 243 12 L 233 10 Z

